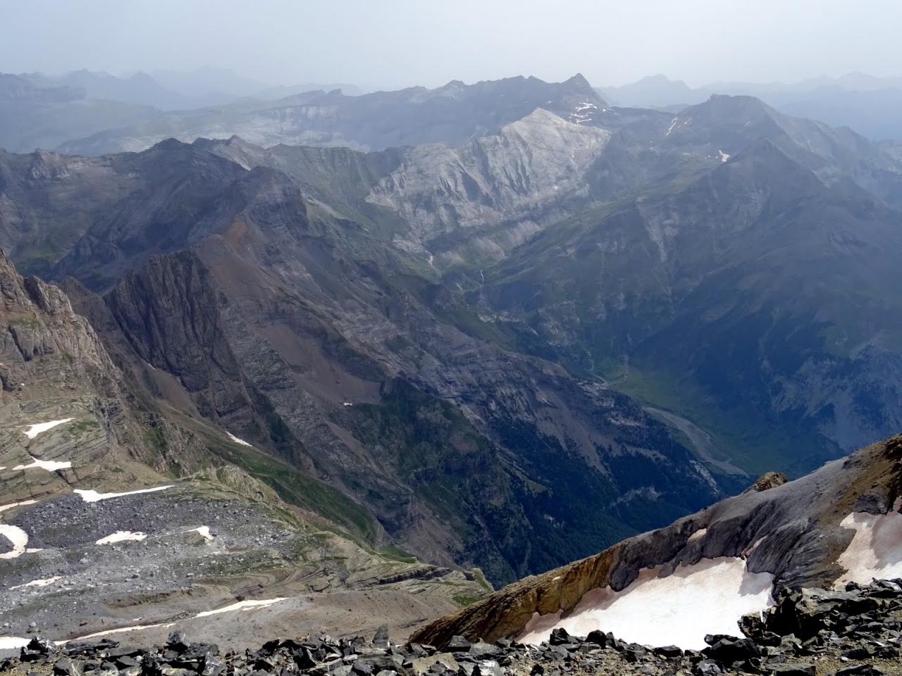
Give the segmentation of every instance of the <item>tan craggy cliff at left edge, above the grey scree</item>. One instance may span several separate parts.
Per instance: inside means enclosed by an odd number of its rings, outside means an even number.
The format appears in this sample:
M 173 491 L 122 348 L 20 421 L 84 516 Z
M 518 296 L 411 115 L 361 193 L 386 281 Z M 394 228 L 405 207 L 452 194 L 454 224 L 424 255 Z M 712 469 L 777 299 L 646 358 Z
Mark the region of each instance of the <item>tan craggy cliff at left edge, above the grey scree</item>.
M 23 279 L 2 252 L 0 336 L 5 498 L 90 487 L 114 462 L 127 468 L 124 481 L 152 476 L 135 462 L 146 457 L 143 440 L 97 334 L 60 288 Z

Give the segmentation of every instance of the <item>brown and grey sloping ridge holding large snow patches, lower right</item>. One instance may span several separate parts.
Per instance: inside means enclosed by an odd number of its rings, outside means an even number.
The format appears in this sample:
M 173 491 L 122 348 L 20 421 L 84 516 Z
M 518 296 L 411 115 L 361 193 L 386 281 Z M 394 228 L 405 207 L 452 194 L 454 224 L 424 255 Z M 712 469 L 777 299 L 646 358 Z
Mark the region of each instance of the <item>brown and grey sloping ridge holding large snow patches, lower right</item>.
M 895 539 L 902 527 L 900 458 L 902 437 L 896 436 L 802 479 L 763 482 L 667 528 L 520 580 L 411 640 L 442 646 L 464 635 L 538 642 L 564 626 L 576 635 L 600 629 L 653 644 L 656 626 L 649 618 L 662 607 L 669 621 L 657 635 L 686 622 L 695 634 L 684 647 L 698 647 L 704 634 L 737 634 L 741 614 L 767 607 L 769 592 L 779 587 L 895 577 L 902 571 Z M 716 603 L 699 614 L 689 597 L 706 593 Z M 636 599 L 639 606 L 630 607 Z M 720 617 L 722 608 L 728 612 Z

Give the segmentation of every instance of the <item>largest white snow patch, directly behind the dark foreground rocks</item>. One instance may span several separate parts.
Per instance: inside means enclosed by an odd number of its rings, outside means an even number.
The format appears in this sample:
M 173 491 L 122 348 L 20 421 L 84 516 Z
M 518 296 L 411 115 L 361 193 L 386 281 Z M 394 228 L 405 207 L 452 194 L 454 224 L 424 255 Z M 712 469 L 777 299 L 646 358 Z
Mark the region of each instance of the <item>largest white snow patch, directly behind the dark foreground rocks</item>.
M 703 559 L 666 578 L 657 577 L 659 570 L 640 571 L 621 591 L 589 591 L 567 617 L 536 613 L 517 640 L 539 644 L 563 627 L 577 636 L 598 629 L 638 644 L 701 650 L 705 634 L 737 635 L 740 617 L 771 604 L 773 576 L 747 571 L 739 558 Z

